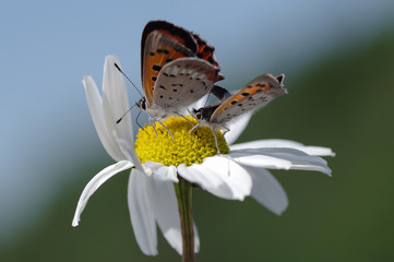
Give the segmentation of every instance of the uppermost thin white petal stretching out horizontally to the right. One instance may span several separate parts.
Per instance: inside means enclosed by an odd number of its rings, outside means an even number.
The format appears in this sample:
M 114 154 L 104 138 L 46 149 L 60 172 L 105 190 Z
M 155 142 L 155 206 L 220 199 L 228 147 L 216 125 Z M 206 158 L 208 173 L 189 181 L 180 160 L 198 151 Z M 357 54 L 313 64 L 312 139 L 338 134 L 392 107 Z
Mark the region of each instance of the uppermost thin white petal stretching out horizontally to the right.
M 335 153 L 333 153 L 331 148 L 321 146 L 306 146 L 301 143 L 290 140 L 259 140 L 230 146 L 231 151 L 260 147 L 290 147 L 303 151 L 309 155 L 335 156 Z

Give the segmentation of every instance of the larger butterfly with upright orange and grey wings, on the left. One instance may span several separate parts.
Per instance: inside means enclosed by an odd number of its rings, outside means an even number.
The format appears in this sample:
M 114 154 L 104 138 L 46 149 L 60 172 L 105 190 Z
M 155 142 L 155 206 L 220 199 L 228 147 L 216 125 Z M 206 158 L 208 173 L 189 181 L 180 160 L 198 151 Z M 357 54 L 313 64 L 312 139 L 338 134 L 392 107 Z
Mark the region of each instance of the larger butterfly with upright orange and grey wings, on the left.
M 166 21 L 148 22 L 141 39 L 145 97 L 136 106 L 162 126 L 160 119 L 168 116 L 183 117 L 182 110 L 224 79 L 214 50 L 199 35 L 182 27 Z

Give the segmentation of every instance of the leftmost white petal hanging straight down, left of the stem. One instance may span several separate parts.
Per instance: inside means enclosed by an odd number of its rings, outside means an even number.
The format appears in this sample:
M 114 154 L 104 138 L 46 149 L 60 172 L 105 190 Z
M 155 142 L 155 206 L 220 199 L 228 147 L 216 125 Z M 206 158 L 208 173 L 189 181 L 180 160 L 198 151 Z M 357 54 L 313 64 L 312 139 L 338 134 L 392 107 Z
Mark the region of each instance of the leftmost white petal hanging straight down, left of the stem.
M 130 174 L 128 188 L 128 204 L 131 224 L 140 249 L 148 255 L 157 254 L 157 231 L 155 224 L 155 213 L 150 194 L 150 180 L 138 169 Z

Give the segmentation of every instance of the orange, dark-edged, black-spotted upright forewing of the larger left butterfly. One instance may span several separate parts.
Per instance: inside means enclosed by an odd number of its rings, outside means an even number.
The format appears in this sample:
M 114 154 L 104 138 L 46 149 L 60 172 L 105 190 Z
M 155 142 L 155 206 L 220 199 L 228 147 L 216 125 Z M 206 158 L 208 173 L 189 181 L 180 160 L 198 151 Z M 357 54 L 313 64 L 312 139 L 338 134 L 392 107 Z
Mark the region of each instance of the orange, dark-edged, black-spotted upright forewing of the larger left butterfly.
M 166 21 L 146 24 L 141 40 L 141 79 L 148 106 L 153 106 L 153 91 L 162 68 L 178 58 L 196 57 L 198 44 L 193 35 Z

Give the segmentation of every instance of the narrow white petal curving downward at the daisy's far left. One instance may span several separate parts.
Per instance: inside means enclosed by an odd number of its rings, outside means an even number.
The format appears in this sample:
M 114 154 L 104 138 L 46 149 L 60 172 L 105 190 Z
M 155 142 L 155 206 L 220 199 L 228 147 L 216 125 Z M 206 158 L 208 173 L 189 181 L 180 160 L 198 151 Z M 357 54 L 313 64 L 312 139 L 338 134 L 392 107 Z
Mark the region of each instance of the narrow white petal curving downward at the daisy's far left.
M 81 219 L 81 214 L 85 209 L 85 205 L 87 204 L 87 201 L 92 196 L 92 194 L 109 178 L 131 167 L 133 167 L 133 164 L 131 164 L 128 160 L 121 160 L 118 162 L 117 164 L 106 167 L 96 176 L 94 176 L 93 179 L 86 184 L 86 187 L 82 191 L 82 194 L 76 205 L 74 218 L 72 219 L 72 226 L 75 227 L 79 225 L 79 222 Z

